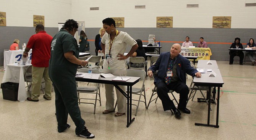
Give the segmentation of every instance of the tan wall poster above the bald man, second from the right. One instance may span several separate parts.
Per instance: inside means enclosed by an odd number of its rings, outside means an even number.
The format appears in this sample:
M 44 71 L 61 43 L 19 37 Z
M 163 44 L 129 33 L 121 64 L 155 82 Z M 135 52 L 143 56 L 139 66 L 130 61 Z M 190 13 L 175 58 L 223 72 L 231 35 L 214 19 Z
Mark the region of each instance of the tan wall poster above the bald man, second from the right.
M 156 17 L 157 28 L 172 28 L 173 17 L 172 16 L 157 16 Z

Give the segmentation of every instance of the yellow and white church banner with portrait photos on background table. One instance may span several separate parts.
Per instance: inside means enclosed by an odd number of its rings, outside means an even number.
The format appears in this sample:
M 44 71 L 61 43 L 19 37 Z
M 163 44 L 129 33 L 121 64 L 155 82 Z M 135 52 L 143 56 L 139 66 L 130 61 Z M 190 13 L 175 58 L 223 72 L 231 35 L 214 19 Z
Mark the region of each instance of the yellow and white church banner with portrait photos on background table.
M 210 56 L 212 55 L 212 52 L 211 52 L 210 48 L 181 47 L 180 55 L 182 55 L 182 56 L 198 56 L 196 61 L 210 60 Z

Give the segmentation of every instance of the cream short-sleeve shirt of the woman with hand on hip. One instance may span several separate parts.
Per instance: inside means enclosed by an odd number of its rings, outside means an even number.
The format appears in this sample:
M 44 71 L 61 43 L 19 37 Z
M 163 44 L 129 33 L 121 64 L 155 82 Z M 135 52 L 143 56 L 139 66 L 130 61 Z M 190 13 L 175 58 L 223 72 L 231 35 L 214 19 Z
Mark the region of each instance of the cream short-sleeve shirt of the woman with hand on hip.
M 105 44 L 105 56 L 106 56 L 106 54 L 107 55 L 109 54 L 110 35 L 104 34 L 101 39 L 101 43 Z M 103 68 L 107 69 L 108 67 L 110 67 L 110 70 L 126 69 L 125 60 L 118 60 L 119 57 L 117 57 L 117 55 L 118 53 L 123 55 L 125 53 L 127 45 L 133 47 L 136 43 L 137 42 L 133 38 L 131 38 L 129 34 L 127 34 L 126 32 L 120 31 L 120 33 L 113 40 L 113 44 L 110 51 L 111 59 L 113 60 L 113 63 L 108 64 L 108 61 L 105 60 L 103 63 Z

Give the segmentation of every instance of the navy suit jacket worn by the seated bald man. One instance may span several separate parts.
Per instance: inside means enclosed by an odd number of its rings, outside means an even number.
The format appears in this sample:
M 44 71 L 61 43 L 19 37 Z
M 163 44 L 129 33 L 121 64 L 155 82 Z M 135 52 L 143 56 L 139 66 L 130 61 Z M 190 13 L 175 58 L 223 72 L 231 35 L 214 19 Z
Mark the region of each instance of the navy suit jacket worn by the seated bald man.
M 154 83 L 165 80 L 166 71 L 168 67 L 167 65 L 169 63 L 169 60 L 170 60 L 170 52 L 161 53 L 156 63 L 149 68 L 149 70 L 151 70 L 152 72 L 155 72 L 158 70 L 157 76 L 155 76 Z M 194 74 L 198 72 L 196 69 L 191 67 L 190 61 L 181 55 L 177 56 L 176 65 L 177 65 L 177 72 L 178 72 L 177 75 L 180 81 L 185 84 L 186 84 L 186 73 L 191 76 L 194 76 Z

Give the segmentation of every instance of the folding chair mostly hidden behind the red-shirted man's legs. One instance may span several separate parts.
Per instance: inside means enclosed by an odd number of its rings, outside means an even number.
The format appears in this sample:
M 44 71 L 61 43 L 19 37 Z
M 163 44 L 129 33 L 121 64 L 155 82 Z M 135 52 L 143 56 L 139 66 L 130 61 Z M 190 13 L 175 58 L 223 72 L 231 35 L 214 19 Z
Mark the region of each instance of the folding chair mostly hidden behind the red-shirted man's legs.
M 28 93 L 31 95 L 31 92 L 30 92 L 30 88 L 32 86 L 32 65 L 28 67 L 28 69 L 24 72 L 24 81 L 26 82 L 27 86 L 28 87 Z M 44 83 L 44 80 L 42 79 L 42 83 Z M 25 87 L 25 88 L 26 88 Z M 44 94 L 44 89 L 42 87 L 42 84 L 41 84 L 41 90 Z

